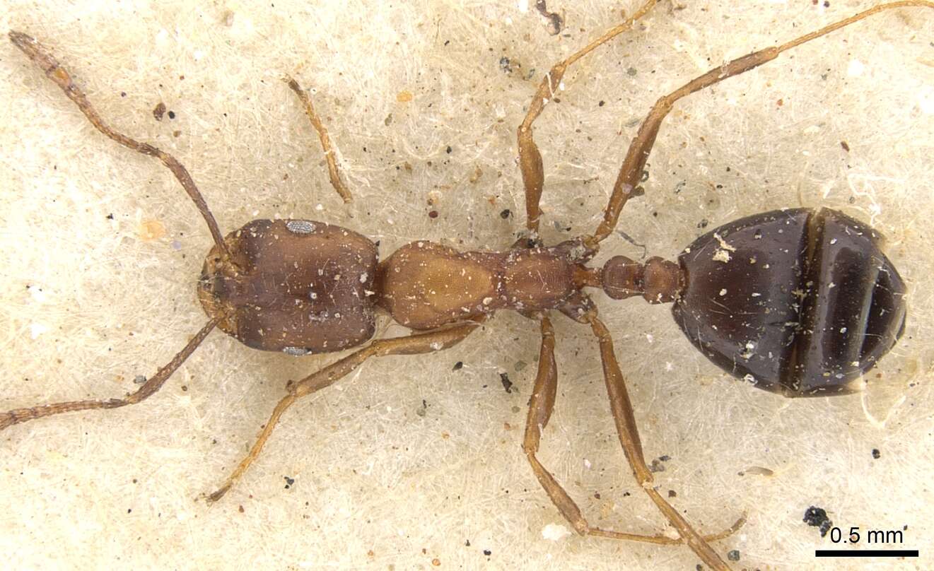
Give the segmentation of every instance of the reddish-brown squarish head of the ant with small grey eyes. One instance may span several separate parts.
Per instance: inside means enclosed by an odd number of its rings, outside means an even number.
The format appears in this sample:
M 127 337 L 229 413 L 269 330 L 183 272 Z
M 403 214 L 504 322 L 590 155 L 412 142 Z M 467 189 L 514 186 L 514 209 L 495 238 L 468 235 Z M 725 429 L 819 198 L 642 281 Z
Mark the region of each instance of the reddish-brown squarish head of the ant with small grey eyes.
M 375 331 L 376 246 L 310 220 L 253 220 L 211 248 L 198 299 L 253 349 L 290 355 L 358 345 Z

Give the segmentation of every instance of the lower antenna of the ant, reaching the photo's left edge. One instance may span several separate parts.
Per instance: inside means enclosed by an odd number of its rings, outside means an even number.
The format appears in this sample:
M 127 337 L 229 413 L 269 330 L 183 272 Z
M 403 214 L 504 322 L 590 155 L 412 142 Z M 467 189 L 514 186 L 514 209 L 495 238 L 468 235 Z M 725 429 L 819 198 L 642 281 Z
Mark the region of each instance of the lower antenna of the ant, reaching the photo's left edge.
M 185 345 L 185 348 L 182 349 L 172 357 L 172 360 L 168 362 L 162 369 L 159 369 L 152 378 L 149 379 L 146 383 L 143 383 L 143 386 L 139 387 L 135 393 L 127 395 L 123 398 L 108 398 L 106 400 L 72 400 L 69 402 L 57 402 L 54 404 L 39 405 L 37 407 L 30 407 L 28 409 L 13 409 L 12 411 L 7 411 L 0 413 L 0 430 L 7 428 L 7 426 L 18 425 L 26 421 L 34 420 L 36 418 L 42 418 L 44 416 L 52 416 L 53 414 L 61 414 L 62 412 L 73 412 L 73 411 L 92 411 L 94 409 L 118 409 L 120 407 L 125 407 L 126 405 L 136 404 L 137 402 L 142 402 L 147 398 L 151 397 L 156 391 L 163 387 L 169 377 L 172 376 L 172 373 L 176 371 L 181 364 L 185 362 L 194 350 L 198 348 L 198 345 L 201 344 L 201 341 L 205 341 L 207 334 L 214 329 L 214 326 L 218 325 L 218 319 L 212 319 L 207 322 L 205 327 L 202 327 L 200 331 L 191 341 L 188 341 L 188 344 Z

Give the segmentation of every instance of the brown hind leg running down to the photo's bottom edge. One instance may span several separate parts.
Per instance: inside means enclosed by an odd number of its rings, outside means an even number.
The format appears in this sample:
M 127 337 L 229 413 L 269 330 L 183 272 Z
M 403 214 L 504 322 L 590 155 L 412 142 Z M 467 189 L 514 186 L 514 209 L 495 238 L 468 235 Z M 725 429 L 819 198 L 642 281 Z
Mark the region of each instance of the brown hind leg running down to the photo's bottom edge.
M 613 352 L 613 338 L 610 336 L 610 331 L 597 318 L 596 310 L 587 313 L 586 319 L 600 343 L 600 358 L 603 363 L 606 392 L 610 397 L 610 410 L 613 412 L 613 420 L 616 422 L 619 443 L 622 445 L 623 453 L 626 454 L 626 459 L 630 463 L 632 474 L 642 486 L 645 494 L 648 494 L 658 509 L 678 530 L 678 534 L 685 539 L 691 550 L 694 550 L 698 557 L 701 558 L 701 561 L 714 569 L 729 571 L 729 566 L 707 544 L 707 540 L 695 531 L 691 524 L 676 509 L 672 508 L 672 505 L 661 494 L 658 494 L 658 490 L 652 486 L 652 472 L 645 465 L 642 441 L 639 439 L 639 429 L 636 426 L 635 415 L 632 413 L 630 396 L 626 391 L 626 381 L 623 379 L 619 364 L 616 362 L 616 354 Z M 734 524 L 734 527 L 738 527 L 743 521 L 744 518 L 741 518 L 740 522 Z M 610 536 L 605 533 L 595 535 Z

